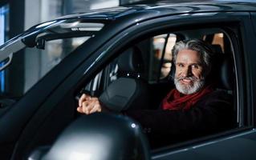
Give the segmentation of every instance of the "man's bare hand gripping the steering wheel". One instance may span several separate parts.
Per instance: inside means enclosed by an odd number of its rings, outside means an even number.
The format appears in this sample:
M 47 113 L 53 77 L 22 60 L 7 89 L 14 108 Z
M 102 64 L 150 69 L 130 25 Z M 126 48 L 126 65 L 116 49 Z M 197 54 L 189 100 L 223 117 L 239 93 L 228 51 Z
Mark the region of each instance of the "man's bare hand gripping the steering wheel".
M 81 114 L 92 114 L 101 112 L 102 106 L 98 98 L 93 98 L 90 95 L 83 94 L 79 98 L 79 106 L 76 109 Z

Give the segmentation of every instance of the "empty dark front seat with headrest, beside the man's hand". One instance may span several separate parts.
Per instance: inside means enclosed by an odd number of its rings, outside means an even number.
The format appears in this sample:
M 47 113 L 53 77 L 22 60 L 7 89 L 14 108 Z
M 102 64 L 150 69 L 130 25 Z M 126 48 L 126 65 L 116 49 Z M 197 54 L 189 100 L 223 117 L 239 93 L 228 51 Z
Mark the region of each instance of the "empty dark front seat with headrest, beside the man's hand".
M 146 108 L 148 87 L 144 80 L 144 62 L 140 49 L 133 46 L 125 50 L 117 64 L 119 78 L 100 95 L 100 102 L 116 112 Z

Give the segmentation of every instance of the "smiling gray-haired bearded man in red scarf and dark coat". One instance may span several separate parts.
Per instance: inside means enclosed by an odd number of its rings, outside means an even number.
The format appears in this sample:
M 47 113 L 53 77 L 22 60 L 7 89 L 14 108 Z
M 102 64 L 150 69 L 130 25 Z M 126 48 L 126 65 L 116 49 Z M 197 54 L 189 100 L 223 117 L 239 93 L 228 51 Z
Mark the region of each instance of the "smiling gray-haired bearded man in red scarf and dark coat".
M 214 90 L 207 80 L 212 67 L 211 47 L 199 39 L 177 42 L 173 47 L 176 89 L 161 102 L 159 110 L 127 110 L 148 134 L 152 146 L 180 142 L 234 125 L 232 98 Z M 98 98 L 83 94 L 79 113 L 91 114 L 104 108 Z

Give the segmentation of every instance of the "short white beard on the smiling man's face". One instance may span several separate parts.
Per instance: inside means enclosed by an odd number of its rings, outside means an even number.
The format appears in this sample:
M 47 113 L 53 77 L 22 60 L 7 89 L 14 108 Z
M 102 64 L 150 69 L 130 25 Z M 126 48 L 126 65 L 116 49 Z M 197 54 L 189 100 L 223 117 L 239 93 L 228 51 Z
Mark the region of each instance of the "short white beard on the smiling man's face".
M 190 77 L 191 78 L 191 77 Z M 180 81 L 183 78 L 174 78 L 174 84 L 176 89 L 181 92 L 181 94 L 194 94 L 197 91 L 201 90 L 203 86 L 205 86 L 205 78 L 198 79 L 198 78 L 191 78 L 192 84 L 182 84 Z

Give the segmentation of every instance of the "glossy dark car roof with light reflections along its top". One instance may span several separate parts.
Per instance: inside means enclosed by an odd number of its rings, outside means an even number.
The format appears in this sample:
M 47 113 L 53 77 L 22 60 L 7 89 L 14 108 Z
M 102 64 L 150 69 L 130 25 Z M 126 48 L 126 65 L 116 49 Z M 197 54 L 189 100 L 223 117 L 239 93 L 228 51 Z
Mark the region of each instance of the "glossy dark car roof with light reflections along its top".
M 6 47 L 24 36 L 33 32 L 40 32 L 40 30 L 46 29 L 55 23 L 62 22 L 62 20 L 75 19 L 75 21 L 104 21 L 112 22 L 111 28 L 113 32 L 123 30 L 128 26 L 139 24 L 149 19 L 165 17 L 167 15 L 179 15 L 179 14 L 196 14 L 196 13 L 214 13 L 214 12 L 252 12 L 256 11 L 256 2 L 250 0 L 238 0 L 246 2 L 226 2 L 221 0 L 205 0 L 204 2 L 191 2 L 191 0 L 184 0 L 177 2 L 160 1 L 156 3 L 137 4 L 128 6 L 117 6 L 101 10 L 90 10 L 84 13 L 68 14 L 61 18 L 57 18 L 54 21 L 43 22 L 36 26 L 32 26 L 29 30 L 26 30 L 25 34 L 20 34 L 15 38 L 10 39 L 0 48 Z M 214 14 L 215 15 L 215 14 Z M 49 25 L 50 24 L 50 25 Z M 40 26 L 40 27 L 39 27 Z M 43 27 L 41 27 L 43 26 Z M 20 40 L 18 40 L 20 41 Z

